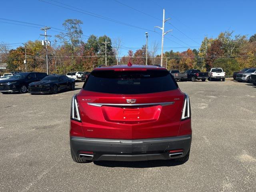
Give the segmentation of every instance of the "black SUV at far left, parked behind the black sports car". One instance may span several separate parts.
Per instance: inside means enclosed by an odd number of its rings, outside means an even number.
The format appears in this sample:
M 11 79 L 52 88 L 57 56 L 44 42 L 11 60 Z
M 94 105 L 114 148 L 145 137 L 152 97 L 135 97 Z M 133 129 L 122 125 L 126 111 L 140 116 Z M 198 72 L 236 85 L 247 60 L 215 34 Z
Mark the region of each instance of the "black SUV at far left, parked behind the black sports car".
M 9 79 L 2 80 L 0 82 L 0 92 L 26 93 L 28 91 L 28 84 L 35 81 L 40 81 L 46 76 L 46 73 L 39 72 L 18 73 L 14 76 L 11 76 Z

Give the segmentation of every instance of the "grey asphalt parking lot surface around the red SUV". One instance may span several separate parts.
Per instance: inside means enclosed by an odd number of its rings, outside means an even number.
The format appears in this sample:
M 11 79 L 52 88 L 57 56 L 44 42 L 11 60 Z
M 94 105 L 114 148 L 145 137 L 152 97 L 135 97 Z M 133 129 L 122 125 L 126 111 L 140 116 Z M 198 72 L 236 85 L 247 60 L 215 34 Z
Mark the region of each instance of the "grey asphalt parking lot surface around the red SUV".
M 0 191 L 256 191 L 256 86 L 178 84 L 192 108 L 184 164 L 73 162 L 70 102 L 82 83 L 56 95 L 0 94 Z

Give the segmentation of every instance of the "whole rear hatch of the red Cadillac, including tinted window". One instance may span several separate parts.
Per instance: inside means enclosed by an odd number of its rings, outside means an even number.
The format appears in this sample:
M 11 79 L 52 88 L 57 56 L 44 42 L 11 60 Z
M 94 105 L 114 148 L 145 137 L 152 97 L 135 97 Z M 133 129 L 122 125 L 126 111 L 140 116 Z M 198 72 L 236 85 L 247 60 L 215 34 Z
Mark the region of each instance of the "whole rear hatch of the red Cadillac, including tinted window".
M 85 136 L 177 136 L 184 94 L 165 71 L 93 72 L 77 95 Z

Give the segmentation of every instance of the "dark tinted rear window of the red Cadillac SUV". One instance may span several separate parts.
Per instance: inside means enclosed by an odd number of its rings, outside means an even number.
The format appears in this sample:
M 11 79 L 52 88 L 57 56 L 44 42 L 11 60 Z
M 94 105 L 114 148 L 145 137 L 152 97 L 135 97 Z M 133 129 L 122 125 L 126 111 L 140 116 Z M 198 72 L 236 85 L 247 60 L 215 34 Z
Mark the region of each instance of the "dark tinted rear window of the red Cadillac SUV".
M 84 90 L 112 94 L 145 94 L 177 89 L 167 70 L 93 71 Z

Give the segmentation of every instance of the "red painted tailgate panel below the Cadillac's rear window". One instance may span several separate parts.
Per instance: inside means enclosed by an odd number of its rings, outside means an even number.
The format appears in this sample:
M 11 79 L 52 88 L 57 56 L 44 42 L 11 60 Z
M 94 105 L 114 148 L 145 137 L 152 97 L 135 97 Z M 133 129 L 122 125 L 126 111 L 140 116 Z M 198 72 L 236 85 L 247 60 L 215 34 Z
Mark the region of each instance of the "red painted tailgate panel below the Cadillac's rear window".
M 127 104 L 126 99 L 136 99 L 136 104 L 152 102 L 174 102 L 174 104 L 139 108 L 88 105 L 88 102 Z M 184 103 L 184 94 L 179 89 L 133 95 L 82 90 L 77 95 L 77 100 L 85 137 L 141 139 L 178 136 Z

